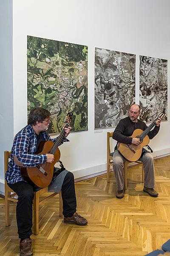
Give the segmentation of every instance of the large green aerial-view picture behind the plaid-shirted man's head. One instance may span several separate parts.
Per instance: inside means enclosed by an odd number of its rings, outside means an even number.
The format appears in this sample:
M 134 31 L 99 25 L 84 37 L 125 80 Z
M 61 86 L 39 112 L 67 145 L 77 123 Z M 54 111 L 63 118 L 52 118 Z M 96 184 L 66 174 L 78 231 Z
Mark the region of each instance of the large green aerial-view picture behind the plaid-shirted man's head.
M 88 130 L 87 46 L 28 36 L 27 79 L 28 114 L 48 109 L 48 133 L 62 131 L 68 112 L 72 131 Z

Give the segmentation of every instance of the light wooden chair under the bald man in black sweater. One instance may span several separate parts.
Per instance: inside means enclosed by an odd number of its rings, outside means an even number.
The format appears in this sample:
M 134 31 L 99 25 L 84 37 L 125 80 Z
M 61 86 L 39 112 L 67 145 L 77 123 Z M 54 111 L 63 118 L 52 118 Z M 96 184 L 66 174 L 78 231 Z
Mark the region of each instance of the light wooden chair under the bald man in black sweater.
M 112 138 L 113 132 L 107 132 L 107 181 L 110 181 L 110 166 L 113 166 L 113 153 L 111 153 L 111 145 L 110 145 L 110 138 Z M 132 166 L 127 166 L 130 162 L 128 160 L 124 163 L 124 180 L 125 180 L 125 189 L 127 189 L 127 168 Z M 144 169 L 143 164 L 141 161 L 135 161 L 137 165 L 142 165 L 142 182 L 144 182 Z

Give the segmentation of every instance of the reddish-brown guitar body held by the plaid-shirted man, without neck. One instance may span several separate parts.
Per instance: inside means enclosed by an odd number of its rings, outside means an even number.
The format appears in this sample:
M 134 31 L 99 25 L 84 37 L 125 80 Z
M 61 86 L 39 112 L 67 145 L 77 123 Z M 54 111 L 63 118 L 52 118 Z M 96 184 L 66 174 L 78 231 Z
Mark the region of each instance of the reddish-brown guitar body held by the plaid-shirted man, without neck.
M 50 151 L 53 145 L 54 142 L 51 140 L 42 141 L 35 154 L 51 154 Z M 40 188 L 45 188 L 51 183 L 54 165 L 58 162 L 59 158 L 60 151 L 59 148 L 57 148 L 54 153 L 53 163 L 42 163 L 35 167 L 21 167 L 21 175 L 23 176 L 24 180 L 28 181 L 28 183 L 34 183 Z M 41 172 L 40 169 L 43 169 L 45 173 Z

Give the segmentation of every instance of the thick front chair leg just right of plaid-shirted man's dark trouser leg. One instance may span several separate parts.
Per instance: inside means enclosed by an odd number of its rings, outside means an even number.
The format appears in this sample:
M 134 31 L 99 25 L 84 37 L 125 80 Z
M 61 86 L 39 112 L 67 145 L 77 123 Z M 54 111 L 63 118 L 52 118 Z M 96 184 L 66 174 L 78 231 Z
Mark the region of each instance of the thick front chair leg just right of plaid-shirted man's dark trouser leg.
M 40 201 L 40 194 L 39 194 L 39 192 L 35 192 L 34 193 L 34 201 L 33 201 L 34 235 L 38 235 L 38 233 L 39 233 L 39 201 Z

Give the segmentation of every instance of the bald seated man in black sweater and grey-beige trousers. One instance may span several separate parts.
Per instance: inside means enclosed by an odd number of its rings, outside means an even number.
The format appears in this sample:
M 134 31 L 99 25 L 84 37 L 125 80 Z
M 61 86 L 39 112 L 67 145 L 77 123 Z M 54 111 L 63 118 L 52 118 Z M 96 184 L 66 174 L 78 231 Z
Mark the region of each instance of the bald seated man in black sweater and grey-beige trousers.
M 133 104 L 130 106 L 129 116 L 121 119 L 119 124 L 116 126 L 115 131 L 113 132 L 113 139 L 117 140 L 117 144 L 126 143 L 126 144 L 135 144 L 139 145 L 139 138 L 130 138 L 133 134 L 133 131 L 136 129 L 145 130 L 147 125 L 138 119 L 140 116 L 140 106 Z M 150 139 L 156 136 L 159 132 L 161 119 L 159 118 L 155 122 L 155 127 L 152 131 L 150 131 L 147 135 Z M 117 192 L 116 198 L 123 198 L 125 194 L 125 182 L 124 182 L 124 170 L 123 164 L 125 162 L 125 158 L 119 154 L 117 150 L 117 144 L 115 147 L 115 151 L 113 154 L 113 171 L 116 177 L 117 183 Z M 146 152 L 139 159 L 143 163 L 144 167 L 144 189 L 143 191 L 148 193 L 150 196 L 157 197 L 158 193 L 153 189 L 155 187 L 155 175 L 154 175 L 154 166 L 153 166 L 153 156 Z

